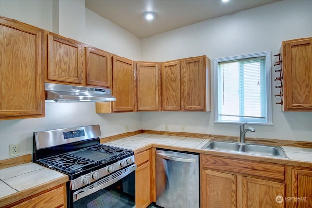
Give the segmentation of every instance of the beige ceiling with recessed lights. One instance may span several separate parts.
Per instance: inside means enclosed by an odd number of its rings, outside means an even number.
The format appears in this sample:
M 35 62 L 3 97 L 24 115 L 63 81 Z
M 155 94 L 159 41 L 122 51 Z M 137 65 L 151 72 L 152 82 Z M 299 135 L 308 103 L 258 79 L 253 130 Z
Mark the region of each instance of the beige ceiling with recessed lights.
M 278 0 L 85 0 L 86 8 L 139 38 L 153 36 Z M 153 11 L 147 21 L 143 13 Z

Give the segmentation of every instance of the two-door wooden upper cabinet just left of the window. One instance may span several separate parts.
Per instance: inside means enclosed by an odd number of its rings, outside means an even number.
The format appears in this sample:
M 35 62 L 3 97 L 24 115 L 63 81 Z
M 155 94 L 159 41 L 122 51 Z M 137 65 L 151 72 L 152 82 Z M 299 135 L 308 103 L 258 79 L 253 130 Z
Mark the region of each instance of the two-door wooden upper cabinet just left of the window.
M 161 63 L 164 111 L 210 111 L 210 60 L 206 56 Z

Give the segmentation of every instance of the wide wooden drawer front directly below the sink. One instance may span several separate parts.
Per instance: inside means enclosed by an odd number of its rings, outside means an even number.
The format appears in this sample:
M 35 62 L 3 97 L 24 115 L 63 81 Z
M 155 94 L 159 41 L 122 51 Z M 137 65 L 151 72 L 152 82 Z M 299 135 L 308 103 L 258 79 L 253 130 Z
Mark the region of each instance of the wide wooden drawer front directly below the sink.
M 204 169 L 226 170 L 278 180 L 284 180 L 285 178 L 284 166 L 274 163 L 225 159 L 208 155 L 201 155 L 201 162 Z

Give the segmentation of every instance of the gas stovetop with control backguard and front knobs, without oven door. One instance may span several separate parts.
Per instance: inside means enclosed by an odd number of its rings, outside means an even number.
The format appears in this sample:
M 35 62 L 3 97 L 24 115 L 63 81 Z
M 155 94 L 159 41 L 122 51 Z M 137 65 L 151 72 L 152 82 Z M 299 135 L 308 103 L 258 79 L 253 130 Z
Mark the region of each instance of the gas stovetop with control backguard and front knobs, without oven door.
M 33 161 L 69 176 L 71 190 L 134 166 L 130 149 L 100 144 L 99 125 L 34 132 Z

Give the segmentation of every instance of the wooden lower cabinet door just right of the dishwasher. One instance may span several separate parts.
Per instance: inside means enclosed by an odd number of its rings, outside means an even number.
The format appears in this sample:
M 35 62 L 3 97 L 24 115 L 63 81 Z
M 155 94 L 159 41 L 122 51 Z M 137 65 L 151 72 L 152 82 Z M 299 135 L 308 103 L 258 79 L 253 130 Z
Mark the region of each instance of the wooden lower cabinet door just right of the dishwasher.
M 202 170 L 201 207 L 236 208 L 236 175 Z

